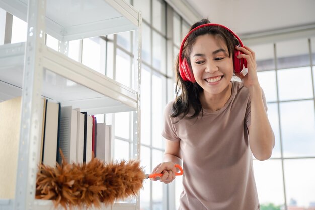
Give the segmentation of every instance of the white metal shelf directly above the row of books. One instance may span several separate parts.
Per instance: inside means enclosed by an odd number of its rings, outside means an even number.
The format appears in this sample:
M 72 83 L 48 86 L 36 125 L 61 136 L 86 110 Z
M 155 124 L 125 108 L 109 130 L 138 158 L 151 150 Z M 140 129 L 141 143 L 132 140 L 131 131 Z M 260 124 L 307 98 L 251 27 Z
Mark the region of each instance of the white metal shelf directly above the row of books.
M 25 43 L 0 46 L 0 85 L 16 96 L 22 88 Z M 23 50 L 22 50 L 23 49 Z M 137 92 L 67 56 L 44 46 L 42 95 L 62 106 L 80 107 L 88 114 L 135 111 Z M 75 82 L 73 82 L 73 81 Z M 10 91 L 8 91 L 10 89 Z M 12 90 L 11 90 L 12 89 Z M 3 96 L 6 97 L 5 95 Z

